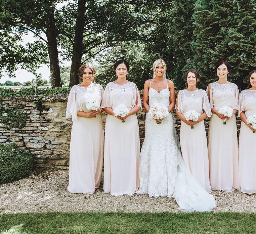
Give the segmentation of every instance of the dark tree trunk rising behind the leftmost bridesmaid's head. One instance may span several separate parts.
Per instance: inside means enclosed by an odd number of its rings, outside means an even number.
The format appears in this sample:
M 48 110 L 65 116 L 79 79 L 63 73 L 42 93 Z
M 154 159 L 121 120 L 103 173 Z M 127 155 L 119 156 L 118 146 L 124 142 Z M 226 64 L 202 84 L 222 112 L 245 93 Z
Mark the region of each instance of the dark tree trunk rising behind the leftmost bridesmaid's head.
M 74 36 L 74 46 L 72 53 L 72 63 L 70 70 L 69 86 L 79 84 L 78 69 L 81 65 L 83 55 L 83 34 L 84 34 L 84 14 L 85 14 L 85 0 L 79 0 L 77 6 L 76 30 Z

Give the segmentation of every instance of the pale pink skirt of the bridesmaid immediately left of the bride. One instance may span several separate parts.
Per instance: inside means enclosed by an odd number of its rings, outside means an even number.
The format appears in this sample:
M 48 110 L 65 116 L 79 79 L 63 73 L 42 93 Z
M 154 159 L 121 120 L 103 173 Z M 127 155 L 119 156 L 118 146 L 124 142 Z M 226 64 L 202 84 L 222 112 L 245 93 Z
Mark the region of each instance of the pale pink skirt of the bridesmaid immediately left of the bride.
M 125 123 L 107 115 L 104 146 L 105 193 L 134 194 L 139 187 L 139 126 L 136 114 Z

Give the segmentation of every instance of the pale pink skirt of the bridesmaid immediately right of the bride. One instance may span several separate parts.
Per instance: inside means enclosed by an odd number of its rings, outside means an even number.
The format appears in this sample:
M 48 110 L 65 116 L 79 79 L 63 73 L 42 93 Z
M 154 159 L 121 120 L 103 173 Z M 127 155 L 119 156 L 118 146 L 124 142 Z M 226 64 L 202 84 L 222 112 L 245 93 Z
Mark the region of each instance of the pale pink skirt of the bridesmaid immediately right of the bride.
M 204 121 L 194 129 L 181 121 L 180 148 L 185 165 L 198 182 L 210 193 L 209 159 Z

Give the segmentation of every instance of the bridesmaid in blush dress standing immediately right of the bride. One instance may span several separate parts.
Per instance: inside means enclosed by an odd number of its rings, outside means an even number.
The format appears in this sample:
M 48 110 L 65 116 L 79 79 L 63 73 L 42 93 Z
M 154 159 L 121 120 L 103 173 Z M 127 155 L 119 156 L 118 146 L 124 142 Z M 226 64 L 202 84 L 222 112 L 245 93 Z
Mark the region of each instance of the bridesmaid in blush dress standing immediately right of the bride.
M 212 192 L 209 177 L 209 159 L 204 119 L 210 117 L 211 107 L 205 90 L 196 87 L 199 74 L 190 69 L 185 75 L 186 89 L 177 95 L 175 112 L 181 120 L 180 148 L 185 165 L 207 192 Z M 183 115 L 188 110 L 196 110 L 198 121 L 186 120 Z M 191 126 L 194 126 L 191 129 Z

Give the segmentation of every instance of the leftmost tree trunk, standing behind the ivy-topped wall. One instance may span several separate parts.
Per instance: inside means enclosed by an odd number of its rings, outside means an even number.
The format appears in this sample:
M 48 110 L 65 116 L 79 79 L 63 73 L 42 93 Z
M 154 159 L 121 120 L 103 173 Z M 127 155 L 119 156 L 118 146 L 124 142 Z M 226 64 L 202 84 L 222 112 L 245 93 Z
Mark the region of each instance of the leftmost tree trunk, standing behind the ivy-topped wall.
M 60 80 L 60 69 L 59 69 L 59 57 L 57 49 L 57 34 L 55 27 L 54 12 L 48 11 L 47 13 L 47 27 L 46 27 L 46 37 L 48 41 L 48 53 L 50 60 L 50 72 L 51 72 L 51 87 L 61 87 Z

